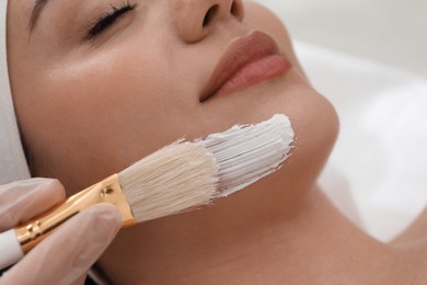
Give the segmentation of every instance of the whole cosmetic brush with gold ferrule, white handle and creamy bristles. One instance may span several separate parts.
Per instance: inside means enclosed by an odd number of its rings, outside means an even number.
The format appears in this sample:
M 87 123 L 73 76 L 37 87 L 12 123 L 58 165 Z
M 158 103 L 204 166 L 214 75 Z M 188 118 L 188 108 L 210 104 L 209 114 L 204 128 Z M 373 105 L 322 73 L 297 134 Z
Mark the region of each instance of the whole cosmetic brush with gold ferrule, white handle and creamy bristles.
M 293 130 L 286 115 L 235 125 L 205 139 L 177 141 L 0 233 L 0 269 L 23 258 L 73 215 L 97 203 L 119 210 L 123 227 L 199 208 L 280 168 Z

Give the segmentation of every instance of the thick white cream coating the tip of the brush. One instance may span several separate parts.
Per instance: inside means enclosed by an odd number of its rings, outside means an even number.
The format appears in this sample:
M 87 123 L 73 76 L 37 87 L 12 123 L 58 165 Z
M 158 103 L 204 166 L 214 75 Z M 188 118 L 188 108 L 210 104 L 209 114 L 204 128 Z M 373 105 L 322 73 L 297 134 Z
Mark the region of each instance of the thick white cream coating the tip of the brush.
M 194 142 L 214 153 L 219 164 L 219 196 L 224 197 L 278 170 L 290 156 L 293 138 L 289 117 L 277 114 Z

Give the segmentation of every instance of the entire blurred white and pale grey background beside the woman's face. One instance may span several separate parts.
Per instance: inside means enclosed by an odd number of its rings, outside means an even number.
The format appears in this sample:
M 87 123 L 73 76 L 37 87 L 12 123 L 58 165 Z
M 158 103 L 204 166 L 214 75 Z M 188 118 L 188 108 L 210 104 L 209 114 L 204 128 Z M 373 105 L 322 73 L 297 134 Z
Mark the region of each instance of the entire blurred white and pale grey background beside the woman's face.
M 341 132 L 320 185 L 380 240 L 427 205 L 427 0 L 257 0 L 295 41 Z

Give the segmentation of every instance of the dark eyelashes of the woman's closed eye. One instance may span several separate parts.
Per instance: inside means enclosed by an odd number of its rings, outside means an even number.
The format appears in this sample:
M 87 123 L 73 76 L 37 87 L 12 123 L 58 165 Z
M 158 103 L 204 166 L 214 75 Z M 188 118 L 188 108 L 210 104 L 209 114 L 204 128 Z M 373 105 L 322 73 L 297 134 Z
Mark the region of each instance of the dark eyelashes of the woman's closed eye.
M 112 5 L 112 10 L 101 15 L 89 30 L 86 39 L 93 39 L 101 35 L 105 30 L 113 26 L 119 18 L 132 11 L 135 7 L 136 4 L 131 4 L 129 1 L 124 2 L 119 8 Z

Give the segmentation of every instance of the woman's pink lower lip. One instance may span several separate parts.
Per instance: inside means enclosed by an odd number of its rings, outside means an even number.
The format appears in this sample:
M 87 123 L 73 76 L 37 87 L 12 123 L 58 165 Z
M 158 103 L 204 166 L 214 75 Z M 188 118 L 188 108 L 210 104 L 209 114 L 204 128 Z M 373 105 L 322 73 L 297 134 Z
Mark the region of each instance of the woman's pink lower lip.
M 239 70 L 216 92 L 216 95 L 234 93 L 263 81 L 274 79 L 286 73 L 290 67 L 290 62 L 280 55 L 263 57 Z

